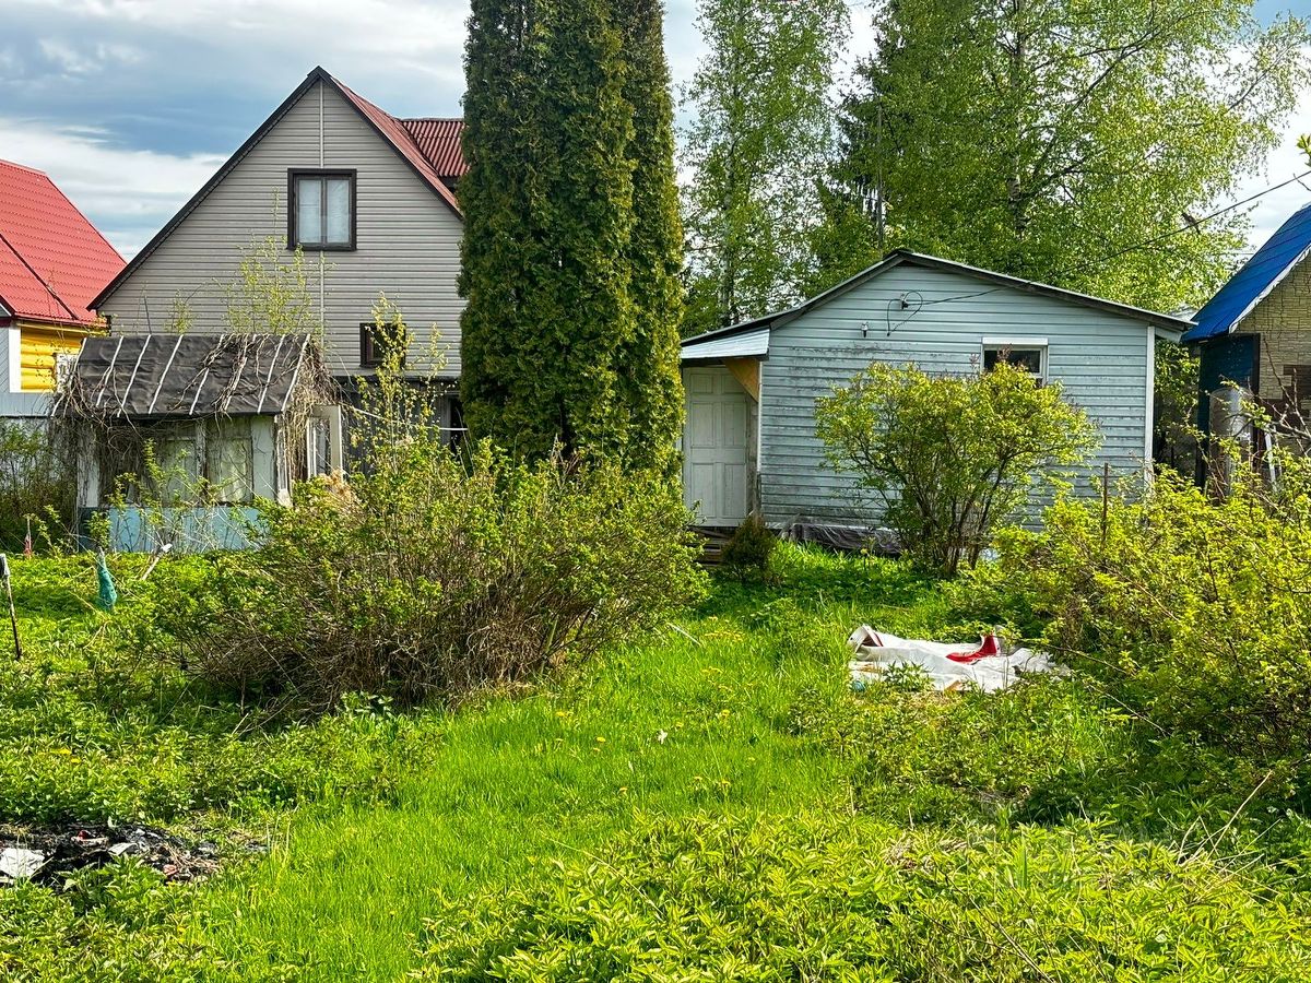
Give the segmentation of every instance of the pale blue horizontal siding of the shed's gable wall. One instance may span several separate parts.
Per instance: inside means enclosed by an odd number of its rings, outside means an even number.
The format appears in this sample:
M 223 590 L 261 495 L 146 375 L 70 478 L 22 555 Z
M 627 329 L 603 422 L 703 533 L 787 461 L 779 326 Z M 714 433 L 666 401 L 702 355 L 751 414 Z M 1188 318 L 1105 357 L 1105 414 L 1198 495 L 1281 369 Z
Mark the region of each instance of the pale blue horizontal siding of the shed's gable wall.
M 899 309 L 899 299 L 911 307 Z M 863 328 L 868 332 L 863 336 Z M 891 332 L 889 333 L 889 328 Z M 776 328 L 763 366 L 760 497 L 771 523 L 877 522 L 873 502 L 825 463 L 814 406 L 871 362 L 971 372 L 985 337 L 1047 339 L 1047 374 L 1101 435 L 1104 463 L 1141 474 L 1147 448 L 1151 326 L 1012 287 L 903 263 Z M 1091 492 L 1087 478 L 1078 486 Z

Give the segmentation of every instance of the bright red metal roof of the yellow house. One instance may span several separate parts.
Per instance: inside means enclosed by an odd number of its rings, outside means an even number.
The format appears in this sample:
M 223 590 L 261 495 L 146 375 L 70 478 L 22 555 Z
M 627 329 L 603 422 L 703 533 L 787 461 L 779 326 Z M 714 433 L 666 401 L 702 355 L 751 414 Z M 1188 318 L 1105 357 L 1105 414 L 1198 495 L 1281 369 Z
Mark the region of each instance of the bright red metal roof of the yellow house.
M 0 312 L 92 325 L 92 298 L 123 257 L 54 181 L 0 160 Z

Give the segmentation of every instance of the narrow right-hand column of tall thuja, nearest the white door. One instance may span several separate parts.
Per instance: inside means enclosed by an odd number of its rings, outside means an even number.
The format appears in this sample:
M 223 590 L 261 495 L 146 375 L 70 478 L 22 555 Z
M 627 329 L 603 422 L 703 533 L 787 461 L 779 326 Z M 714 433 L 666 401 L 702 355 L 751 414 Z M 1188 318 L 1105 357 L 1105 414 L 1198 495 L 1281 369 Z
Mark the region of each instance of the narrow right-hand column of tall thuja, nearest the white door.
M 633 414 L 628 459 L 670 471 L 683 419 L 679 326 L 683 224 L 674 173 L 674 101 L 661 0 L 612 0 L 623 38 L 624 98 L 633 110 L 633 227 L 628 242 L 633 336 L 620 351 L 620 387 Z

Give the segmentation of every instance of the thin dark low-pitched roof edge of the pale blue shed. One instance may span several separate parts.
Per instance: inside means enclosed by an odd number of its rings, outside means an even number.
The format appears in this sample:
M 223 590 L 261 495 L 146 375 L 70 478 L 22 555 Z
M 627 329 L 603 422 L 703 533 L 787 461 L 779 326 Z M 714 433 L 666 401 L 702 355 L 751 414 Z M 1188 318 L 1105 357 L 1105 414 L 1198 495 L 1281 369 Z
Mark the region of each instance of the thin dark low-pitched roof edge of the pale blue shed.
M 843 280 L 835 287 L 830 287 L 822 294 L 817 294 L 809 300 L 804 300 L 796 307 L 788 308 L 787 311 L 779 311 L 772 315 L 764 315 L 763 317 L 754 317 L 749 321 L 741 321 L 728 328 L 717 328 L 713 332 L 704 332 L 692 338 L 683 339 L 683 347 L 690 345 L 700 345 L 701 342 L 711 341 L 714 338 L 728 338 L 742 332 L 753 332 L 759 328 L 781 328 L 789 321 L 796 320 L 808 311 L 813 311 L 822 304 L 832 300 L 834 298 L 846 294 L 853 287 L 859 287 L 867 280 L 872 280 L 880 274 L 888 273 L 897 266 L 923 266 L 931 270 L 943 270 L 945 273 L 958 273 L 965 277 L 971 277 L 985 283 L 994 283 L 998 287 L 1009 287 L 1012 290 L 1019 290 L 1025 294 L 1037 294 L 1040 296 L 1053 298 L 1055 300 L 1062 300 L 1070 304 L 1079 304 L 1082 307 L 1088 307 L 1095 311 L 1104 311 L 1106 313 L 1120 315 L 1122 317 L 1129 317 L 1135 321 L 1142 321 L 1143 324 L 1150 324 L 1154 328 L 1162 328 L 1169 334 L 1177 334 L 1179 332 L 1186 330 L 1193 326 L 1192 321 L 1185 321 L 1181 317 L 1173 317 L 1171 315 L 1163 315 L 1156 311 L 1147 311 L 1141 307 L 1133 307 L 1131 304 L 1120 304 L 1114 300 L 1105 300 L 1104 298 L 1095 298 L 1089 294 L 1079 294 L 1074 290 L 1063 290 L 1061 287 L 1053 287 L 1046 283 L 1036 283 L 1034 280 L 1020 279 L 1019 277 L 1008 277 L 1004 273 L 994 273 L 992 270 L 983 270 L 978 266 L 969 266 L 966 263 L 958 263 L 953 260 L 943 260 L 937 256 L 926 256 L 923 253 L 912 253 L 909 249 L 897 249 L 884 257 L 881 261 L 874 263 L 867 270 L 861 270 L 855 277 Z

